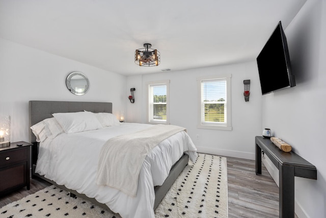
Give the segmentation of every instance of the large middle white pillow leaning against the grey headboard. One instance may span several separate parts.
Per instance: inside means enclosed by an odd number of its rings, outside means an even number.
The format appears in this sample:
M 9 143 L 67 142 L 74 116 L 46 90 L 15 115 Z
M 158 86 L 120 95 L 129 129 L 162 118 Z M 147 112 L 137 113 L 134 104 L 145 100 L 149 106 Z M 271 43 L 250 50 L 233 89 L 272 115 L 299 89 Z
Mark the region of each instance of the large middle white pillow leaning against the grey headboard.
M 102 128 L 92 112 L 53 113 L 52 115 L 67 134 Z

